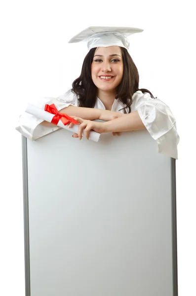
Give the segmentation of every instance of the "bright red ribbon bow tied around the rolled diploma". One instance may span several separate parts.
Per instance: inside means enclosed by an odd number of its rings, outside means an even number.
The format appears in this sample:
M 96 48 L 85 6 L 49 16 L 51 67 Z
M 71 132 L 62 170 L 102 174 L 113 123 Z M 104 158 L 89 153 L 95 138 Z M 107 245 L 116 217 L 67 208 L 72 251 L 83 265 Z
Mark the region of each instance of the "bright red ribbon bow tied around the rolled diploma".
M 51 104 L 51 105 L 47 105 L 46 104 L 44 110 L 47 111 L 47 112 L 49 112 L 49 113 L 51 113 L 51 114 L 54 114 L 51 123 L 54 123 L 54 124 L 57 125 L 58 122 L 59 122 L 59 120 L 61 120 L 64 125 L 67 125 L 70 122 L 72 122 L 74 124 L 78 124 L 78 121 L 75 120 L 74 118 L 70 117 L 67 114 L 60 113 L 56 109 L 56 106 L 54 104 Z

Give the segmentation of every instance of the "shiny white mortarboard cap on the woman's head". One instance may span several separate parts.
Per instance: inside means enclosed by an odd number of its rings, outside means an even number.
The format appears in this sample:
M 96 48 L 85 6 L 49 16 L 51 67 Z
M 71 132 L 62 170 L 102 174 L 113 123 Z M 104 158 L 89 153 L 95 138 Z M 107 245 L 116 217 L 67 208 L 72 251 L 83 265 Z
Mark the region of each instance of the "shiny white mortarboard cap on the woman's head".
M 88 27 L 70 39 L 68 43 L 87 41 L 88 50 L 94 47 L 121 46 L 128 50 L 127 36 L 144 30 L 129 27 Z

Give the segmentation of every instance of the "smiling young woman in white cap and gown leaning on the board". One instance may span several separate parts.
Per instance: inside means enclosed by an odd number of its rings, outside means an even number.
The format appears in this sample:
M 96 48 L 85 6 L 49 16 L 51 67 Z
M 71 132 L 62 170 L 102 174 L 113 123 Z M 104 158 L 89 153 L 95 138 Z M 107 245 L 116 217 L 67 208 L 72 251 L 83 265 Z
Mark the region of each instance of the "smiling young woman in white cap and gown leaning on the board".
M 39 107 L 55 104 L 58 111 L 73 116 L 79 122 L 78 134 L 73 137 L 80 140 L 82 131 L 88 138 L 90 130 L 119 135 L 147 129 L 157 141 L 158 152 L 177 158 L 175 118 L 149 90 L 139 89 L 139 74 L 127 51 L 128 40 L 118 31 L 91 33 L 87 39 L 89 52 L 72 89 L 57 99 L 41 102 Z M 92 121 L 95 119 L 105 122 Z M 33 140 L 58 129 L 29 114 L 23 114 L 20 121 L 20 131 Z

